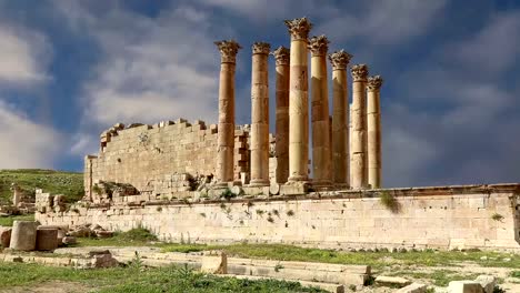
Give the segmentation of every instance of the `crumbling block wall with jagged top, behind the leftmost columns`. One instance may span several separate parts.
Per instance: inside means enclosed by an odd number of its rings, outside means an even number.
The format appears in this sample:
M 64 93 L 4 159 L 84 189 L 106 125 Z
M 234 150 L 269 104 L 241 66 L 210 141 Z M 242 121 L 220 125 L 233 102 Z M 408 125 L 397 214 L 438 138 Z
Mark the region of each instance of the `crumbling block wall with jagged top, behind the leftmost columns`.
M 178 174 L 216 175 L 217 132 L 216 124 L 183 119 L 127 129 L 117 124 L 101 134 L 99 155 L 86 156 L 86 194 L 91 199 L 92 185 L 100 180 L 129 183 L 141 193 L 171 194 L 180 191 Z M 249 171 L 248 137 L 243 129 L 234 132 L 237 180 Z

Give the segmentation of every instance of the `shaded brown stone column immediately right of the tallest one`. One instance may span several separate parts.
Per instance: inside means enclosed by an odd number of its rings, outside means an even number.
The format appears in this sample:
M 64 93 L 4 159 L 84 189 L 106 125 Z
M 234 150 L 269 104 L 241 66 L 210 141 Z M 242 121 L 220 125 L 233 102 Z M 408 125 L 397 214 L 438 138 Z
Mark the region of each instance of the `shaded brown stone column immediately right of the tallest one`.
M 312 122 L 312 182 L 331 184 L 330 139 L 329 139 L 329 90 L 327 78 L 326 36 L 309 40 L 311 51 L 311 122 Z

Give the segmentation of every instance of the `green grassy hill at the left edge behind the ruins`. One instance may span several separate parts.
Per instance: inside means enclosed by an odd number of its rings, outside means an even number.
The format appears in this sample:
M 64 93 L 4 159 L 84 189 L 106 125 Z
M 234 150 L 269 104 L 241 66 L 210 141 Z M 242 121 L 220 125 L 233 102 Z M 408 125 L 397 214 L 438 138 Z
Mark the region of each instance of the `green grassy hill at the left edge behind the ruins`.
M 11 183 L 23 191 L 34 194 L 34 189 L 43 192 L 63 194 L 68 202 L 83 198 L 83 173 L 61 172 L 40 169 L 0 170 L 0 203 L 11 201 Z

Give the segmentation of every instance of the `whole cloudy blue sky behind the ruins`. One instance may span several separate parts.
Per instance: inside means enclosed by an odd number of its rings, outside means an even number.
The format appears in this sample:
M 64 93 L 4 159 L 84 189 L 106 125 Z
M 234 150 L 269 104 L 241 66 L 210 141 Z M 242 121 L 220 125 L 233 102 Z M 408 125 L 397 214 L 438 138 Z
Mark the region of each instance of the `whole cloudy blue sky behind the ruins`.
M 0 169 L 82 170 L 117 122 L 214 123 L 221 39 L 244 48 L 237 123 L 249 123 L 250 46 L 288 47 L 283 20 L 303 16 L 384 79 L 386 186 L 520 181 L 512 0 L 0 0 Z

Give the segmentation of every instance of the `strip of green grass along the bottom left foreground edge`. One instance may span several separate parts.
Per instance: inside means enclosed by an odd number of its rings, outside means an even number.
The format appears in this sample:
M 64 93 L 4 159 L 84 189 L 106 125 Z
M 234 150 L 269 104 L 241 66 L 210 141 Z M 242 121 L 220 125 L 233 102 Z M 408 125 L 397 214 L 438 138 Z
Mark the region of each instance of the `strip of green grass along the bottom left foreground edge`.
M 186 267 L 144 269 L 136 262 L 127 267 L 73 270 L 38 264 L 0 263 L 0 289 L 33 286 L 43 282 L 66 281 L 87 285 L 93 292 L 323 292 L 299 283 L 248 281 L 219 277 Z

